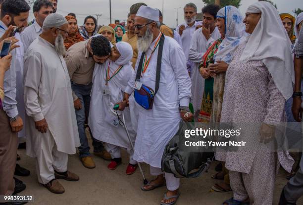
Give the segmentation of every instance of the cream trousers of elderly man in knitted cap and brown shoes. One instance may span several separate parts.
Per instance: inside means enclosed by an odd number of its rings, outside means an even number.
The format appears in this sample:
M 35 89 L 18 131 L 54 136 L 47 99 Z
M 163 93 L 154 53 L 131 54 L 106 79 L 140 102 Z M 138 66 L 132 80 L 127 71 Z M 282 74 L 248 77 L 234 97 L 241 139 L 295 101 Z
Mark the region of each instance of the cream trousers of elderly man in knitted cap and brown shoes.
M 58 151 L 49 130 L 41 138 L 40 146 L 37 150 L 36 171 L 38 181 L 41 184 L 47 184 L 55 178 L 54 170 L 58 172 L 67 171 L 68 155 Z

